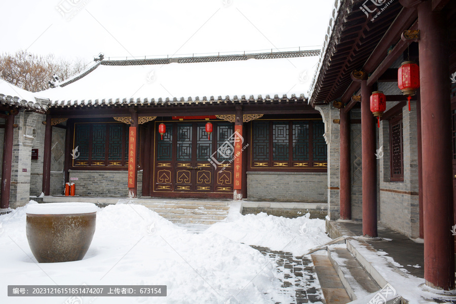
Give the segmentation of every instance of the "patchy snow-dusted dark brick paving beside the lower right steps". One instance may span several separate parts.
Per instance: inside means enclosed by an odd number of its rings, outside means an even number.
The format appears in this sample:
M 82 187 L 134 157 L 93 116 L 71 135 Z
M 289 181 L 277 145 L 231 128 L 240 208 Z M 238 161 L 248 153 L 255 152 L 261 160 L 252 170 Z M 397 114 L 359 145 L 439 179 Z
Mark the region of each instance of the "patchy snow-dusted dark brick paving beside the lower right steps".
M 290 252 L 251 246 L 276 262 L 280 272 L 283 299 L 276 304 L 324 303 L 320 284 L 310 257 L 293 256 Z

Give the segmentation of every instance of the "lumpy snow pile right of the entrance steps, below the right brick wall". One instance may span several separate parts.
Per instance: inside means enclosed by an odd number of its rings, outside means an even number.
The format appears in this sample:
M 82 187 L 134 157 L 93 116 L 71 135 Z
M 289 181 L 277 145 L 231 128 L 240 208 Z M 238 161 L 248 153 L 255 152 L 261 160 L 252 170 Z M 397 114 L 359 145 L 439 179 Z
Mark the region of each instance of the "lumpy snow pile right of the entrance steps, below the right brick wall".
M 216 223 L 206 233 L 216 233 L 248 245 L 292 252 L 294 256 L 331 241 L 325 234 L 325 221 L 310 219 L 309 213 L 297 218 L 247 214 L 234 221 Z

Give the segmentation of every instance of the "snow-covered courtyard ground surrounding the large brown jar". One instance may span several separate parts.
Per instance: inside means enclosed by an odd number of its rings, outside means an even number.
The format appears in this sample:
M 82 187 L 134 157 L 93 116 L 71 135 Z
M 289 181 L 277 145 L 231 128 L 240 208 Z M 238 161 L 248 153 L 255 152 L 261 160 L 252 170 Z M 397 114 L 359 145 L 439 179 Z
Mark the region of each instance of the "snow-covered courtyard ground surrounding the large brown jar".
M 167 297 L 86 297 L 84 303 L 275 303 L 281 296 L 276 264 L 248 245 L 301 255 L 330 240 L 324 220 L 306 216 L 239 214 L 198 230 L 177 226 L 141 205 L 118 204 L 98 208 L 83 260 L 37 263 L 25 234 L 25 208 L 0 216 L 0 303 L 63 304 L 68 299 L 8 297 L 7 285 L 82 284 L 167 285 L 168 290 Z

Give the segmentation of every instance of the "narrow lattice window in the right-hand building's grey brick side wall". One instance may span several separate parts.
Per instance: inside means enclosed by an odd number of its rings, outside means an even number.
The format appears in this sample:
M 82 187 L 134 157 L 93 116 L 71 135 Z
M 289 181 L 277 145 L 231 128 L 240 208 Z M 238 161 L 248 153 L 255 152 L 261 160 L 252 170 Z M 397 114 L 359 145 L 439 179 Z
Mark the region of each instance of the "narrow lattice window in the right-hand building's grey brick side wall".
M 404 157 L 402 142 L 402 115 L 390 120 L 390 150 L 390 180 L 403 181 Z

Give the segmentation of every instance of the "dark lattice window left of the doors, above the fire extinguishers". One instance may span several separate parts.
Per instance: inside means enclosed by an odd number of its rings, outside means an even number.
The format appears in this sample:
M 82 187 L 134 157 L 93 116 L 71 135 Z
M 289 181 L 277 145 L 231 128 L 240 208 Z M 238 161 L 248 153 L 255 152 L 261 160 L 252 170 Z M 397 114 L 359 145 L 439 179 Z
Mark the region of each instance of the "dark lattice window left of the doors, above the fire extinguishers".
M 122 123 L 75 123 L 73 149 L 78 147 L 79 156 L 73 167 L 126 166 L 127 128 Z

